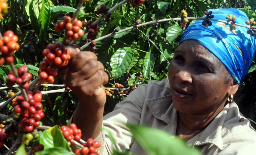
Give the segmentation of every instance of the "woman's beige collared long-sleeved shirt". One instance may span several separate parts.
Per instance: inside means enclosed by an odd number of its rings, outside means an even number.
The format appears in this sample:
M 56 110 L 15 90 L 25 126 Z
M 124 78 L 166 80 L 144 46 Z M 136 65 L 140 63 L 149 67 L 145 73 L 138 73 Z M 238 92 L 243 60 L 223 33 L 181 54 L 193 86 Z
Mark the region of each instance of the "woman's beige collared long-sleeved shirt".
M 104 116 L 103 130 L 95 139 L 101 141 L 101 154 L 112 154 L 114 147 L 119 151 L 130 149 L 131 153 L 146 154 L 133 140 L 126 123 L 151 126 L 175 135 L 177 110 L 171 103 L 168 79 L 140 85 L 118 103 L 113 112 Z M 240 118 L 245 120 L 239 122 Z M 206 129 L 186 143 L 199 148 L 202 154 L 256 155 L 256 132 L 234 102 L 226 104 Z

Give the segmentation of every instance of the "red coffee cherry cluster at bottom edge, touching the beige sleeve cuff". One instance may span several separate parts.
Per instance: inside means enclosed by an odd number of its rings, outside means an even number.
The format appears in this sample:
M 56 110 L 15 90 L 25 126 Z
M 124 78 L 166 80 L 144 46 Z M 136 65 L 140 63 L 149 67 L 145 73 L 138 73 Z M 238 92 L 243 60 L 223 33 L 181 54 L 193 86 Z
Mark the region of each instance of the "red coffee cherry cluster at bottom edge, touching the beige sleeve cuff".
M 82 149 L 75 150 L 76 155 L 97 155 L 101 153 L 98 149 L 101 146 L 101 142 L 93 141 L 92 138 L 88 138 L 86 142 L 82 144 L 84 146 Z

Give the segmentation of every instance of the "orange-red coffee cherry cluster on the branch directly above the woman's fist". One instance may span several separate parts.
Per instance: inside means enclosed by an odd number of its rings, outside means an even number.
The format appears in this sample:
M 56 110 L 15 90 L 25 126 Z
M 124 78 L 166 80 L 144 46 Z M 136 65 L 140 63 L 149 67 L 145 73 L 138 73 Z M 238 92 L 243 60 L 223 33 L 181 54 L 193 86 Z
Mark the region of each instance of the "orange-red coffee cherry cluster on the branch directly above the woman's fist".
M 55 31 L 61 32 L 62 30 L 66 30 L 66 38 L 68 40 L 76 41 L 78 37 L 82 37 L 84 35 L 84 31 L 82 28 L 83 23 L 81 20 L 75 20 L 72 24 L 72 18 L 69 16 L 64 16 L 62 20 L 58 20 L 55 25 Z

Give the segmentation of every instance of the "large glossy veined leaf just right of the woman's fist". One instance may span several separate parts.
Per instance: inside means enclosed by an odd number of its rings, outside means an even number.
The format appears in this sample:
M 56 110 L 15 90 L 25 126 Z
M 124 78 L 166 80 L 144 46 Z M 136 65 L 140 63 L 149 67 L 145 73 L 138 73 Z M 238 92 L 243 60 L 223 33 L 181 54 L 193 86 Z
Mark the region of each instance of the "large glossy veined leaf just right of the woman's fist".
M 133 59 L 133 49 L 131 47 L 119 48 L 111 57 L 110 66 L 112 67 L 113 79 L 126 73 Z

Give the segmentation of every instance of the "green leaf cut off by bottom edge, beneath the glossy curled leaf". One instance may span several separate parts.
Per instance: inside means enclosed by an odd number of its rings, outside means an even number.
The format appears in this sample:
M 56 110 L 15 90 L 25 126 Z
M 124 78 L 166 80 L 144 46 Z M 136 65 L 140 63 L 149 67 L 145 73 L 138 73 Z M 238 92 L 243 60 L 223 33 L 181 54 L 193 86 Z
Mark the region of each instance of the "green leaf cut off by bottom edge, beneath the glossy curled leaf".
M 36 152 L 35 155 L 75 155 L 75 153 L 70 152 L 63 147 L 52 147 Z

